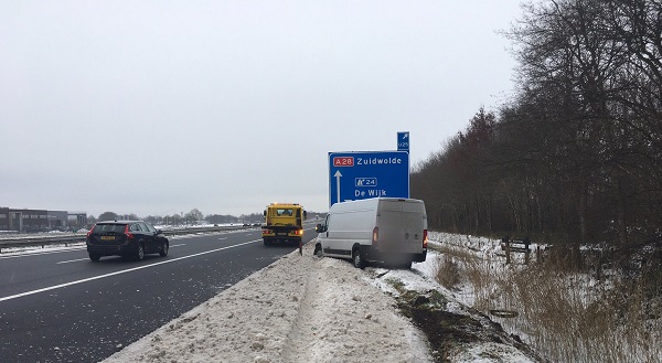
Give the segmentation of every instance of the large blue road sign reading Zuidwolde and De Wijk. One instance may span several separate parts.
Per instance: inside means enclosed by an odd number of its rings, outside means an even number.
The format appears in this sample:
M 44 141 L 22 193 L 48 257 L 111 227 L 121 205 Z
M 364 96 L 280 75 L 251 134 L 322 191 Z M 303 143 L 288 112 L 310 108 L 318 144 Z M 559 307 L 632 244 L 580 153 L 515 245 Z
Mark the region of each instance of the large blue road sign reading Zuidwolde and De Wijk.
M 408 152 L 329 152 L 329 206 L 376 196 L 409 197 Z

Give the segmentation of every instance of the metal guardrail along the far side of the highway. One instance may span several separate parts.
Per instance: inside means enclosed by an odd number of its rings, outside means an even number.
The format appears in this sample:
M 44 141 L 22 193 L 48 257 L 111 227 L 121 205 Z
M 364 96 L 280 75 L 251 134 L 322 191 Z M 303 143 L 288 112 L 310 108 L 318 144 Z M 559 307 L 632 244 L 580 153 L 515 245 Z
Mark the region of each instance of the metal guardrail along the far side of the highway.
M 216 226 L 216 227 L 186 227 L 177 229 L 162 229 L 167 236 L 179 236 L 185 234 L 199 234 L 199 233 L 217 233 L 227 231 L 238 231 L 246 228 L 258 228 L 257 226 L 244 226 L 244 225 L 232 225 L 232 226 Z M 44 235 L 31 235 L 24 237 L 10 237 L 0 239 L 0 254 L 3 248 L 10 247 L 44 247 L 47 245 L 65 245 L 76 243 L 84 243 L 86 234 L 75 234 L 68 236 L 44 236 Z

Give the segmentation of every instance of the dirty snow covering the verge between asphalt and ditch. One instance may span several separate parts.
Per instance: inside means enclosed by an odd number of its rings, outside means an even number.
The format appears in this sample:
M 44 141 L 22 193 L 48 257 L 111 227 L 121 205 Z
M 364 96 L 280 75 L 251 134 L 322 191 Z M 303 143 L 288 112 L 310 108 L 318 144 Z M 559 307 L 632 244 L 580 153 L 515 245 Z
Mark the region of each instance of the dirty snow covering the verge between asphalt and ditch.
M 289 254 L 108 357 L 114 362 L 433 362 L 425 335 L 396 308 L 388 279 L 445 291 L 435 254 L 412 270 Z M 466 310 L 457 302 L 452 310 Z M 450 362 L 534 362 L 512 345 L 466 344 Z

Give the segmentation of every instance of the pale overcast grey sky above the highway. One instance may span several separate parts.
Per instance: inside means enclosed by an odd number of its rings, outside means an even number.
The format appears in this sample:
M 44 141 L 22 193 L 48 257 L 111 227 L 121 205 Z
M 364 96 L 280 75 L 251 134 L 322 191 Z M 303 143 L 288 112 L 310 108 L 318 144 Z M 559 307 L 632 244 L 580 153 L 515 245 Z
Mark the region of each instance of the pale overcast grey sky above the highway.
M 0 206 L 329 205 L 330 151 L 410 163 L 512 94 L 519 0 L 0 0 Z M 285 150 L 285 151 L 284 151 Z

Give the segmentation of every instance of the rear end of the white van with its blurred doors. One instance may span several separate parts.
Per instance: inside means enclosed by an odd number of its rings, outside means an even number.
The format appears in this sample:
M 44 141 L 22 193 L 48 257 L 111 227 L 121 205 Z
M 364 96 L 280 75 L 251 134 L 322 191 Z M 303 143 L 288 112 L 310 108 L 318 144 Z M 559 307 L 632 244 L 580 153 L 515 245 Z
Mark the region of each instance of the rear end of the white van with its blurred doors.
M 420 254 L 425 224 L 424 204 L 415 200 L 382 200 L 377 214 L 382 253 Z

